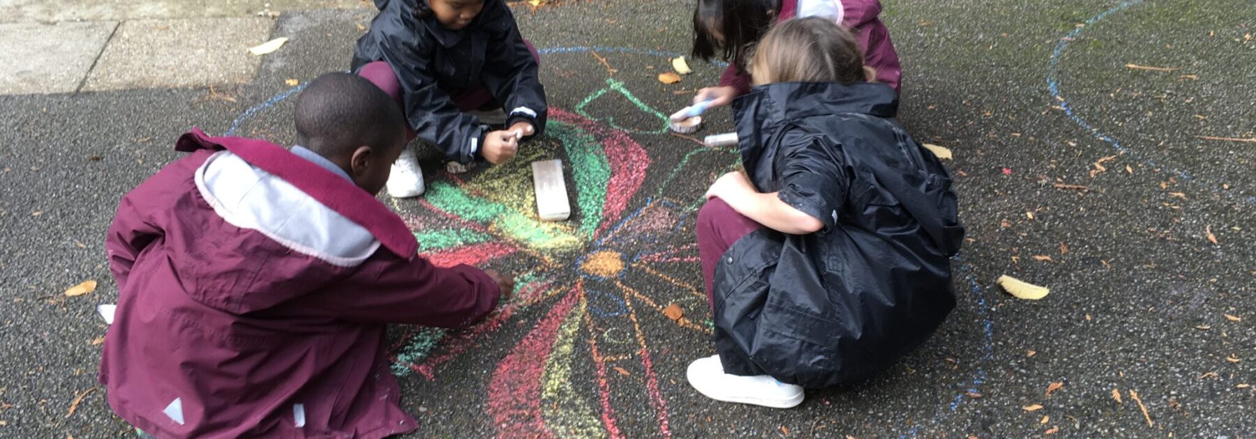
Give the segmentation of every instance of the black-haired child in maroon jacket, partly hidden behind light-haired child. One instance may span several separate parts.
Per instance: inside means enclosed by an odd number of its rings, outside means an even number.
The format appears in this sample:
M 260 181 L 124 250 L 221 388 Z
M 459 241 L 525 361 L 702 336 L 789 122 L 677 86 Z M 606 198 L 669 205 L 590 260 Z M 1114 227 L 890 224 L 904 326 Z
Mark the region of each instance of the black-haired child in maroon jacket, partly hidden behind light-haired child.
M 693 56 L 718 56 L 728 61 L 728 68 L 718 87 L 698 90 L 693 102 L 710 100 L 707 107 L 722 107 L 749 93 L 750 49 L 774 24 L 808 16 L 826 18 L 850 29 L 865 65 L 875 70 L 875 80 L 898 92 L 902 68 L 889 30 L 878 15 L 878 0 L 698 0 L 693 10 Z

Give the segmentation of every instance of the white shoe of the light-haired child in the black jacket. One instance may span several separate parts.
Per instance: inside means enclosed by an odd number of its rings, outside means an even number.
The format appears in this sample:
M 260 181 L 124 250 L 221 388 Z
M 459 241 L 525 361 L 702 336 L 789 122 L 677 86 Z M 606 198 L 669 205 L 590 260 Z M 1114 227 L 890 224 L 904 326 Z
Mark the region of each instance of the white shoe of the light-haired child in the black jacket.
M 698 393 L 720 401 L 774 409 L 789 409 L 803 403 L 803 386 L 785 384 L 769 375 L 725 374 L 718 355 L 693 360 L 686 376 Z

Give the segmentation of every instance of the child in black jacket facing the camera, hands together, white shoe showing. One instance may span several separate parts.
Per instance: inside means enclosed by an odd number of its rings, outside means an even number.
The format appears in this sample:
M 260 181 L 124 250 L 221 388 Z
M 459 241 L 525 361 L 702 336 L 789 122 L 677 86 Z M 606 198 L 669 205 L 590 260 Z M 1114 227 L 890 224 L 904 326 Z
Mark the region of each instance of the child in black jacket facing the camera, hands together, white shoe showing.
M 379 15 L 358 40 L 353 70 L 397 100 L 408 139 L 418 137 L 462 164 L 496 164 L 545 129 L 539 56 L 504 0 L 376 0 L 376 6 Z M 423 193 L 413 151 L 398 158 L 388 193 Z

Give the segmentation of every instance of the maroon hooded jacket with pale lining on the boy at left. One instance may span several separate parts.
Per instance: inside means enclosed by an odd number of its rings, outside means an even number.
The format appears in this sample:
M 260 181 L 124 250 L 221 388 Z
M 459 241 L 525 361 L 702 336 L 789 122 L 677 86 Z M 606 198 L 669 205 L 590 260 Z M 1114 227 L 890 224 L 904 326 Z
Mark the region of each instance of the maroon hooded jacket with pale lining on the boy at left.
M 470 266 L 416 256 L 396 213 L 314 162 L 192 130 L 109 227 L 118 307 L 99 380 L 158 438 L 413 431 L 386 324 L 456 327 L 496 305 Z

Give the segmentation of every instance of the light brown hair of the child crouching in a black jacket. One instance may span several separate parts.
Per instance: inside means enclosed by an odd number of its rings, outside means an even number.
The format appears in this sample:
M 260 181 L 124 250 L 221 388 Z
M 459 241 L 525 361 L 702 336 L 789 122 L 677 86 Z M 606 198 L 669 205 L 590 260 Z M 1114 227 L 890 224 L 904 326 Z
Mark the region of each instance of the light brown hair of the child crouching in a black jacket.
M 755 48 L 755 84 L 865 82 L 854 35 L 829 19 L 811 16 L 774 26 Z

